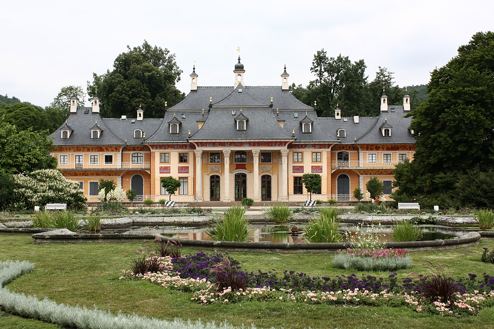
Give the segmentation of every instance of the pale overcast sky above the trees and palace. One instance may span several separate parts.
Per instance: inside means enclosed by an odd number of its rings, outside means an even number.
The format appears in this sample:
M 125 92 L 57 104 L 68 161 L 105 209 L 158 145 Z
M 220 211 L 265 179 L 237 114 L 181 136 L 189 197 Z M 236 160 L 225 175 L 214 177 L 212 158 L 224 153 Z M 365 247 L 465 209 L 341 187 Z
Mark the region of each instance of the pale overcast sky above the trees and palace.
M 185 93 L 194 60 L 200 86 L 233 86 L 238 46 L 247 86 L 281 85 L 285 61 L 289 83 L 306 86 L 323 48 L 364 59 L 369 81 L 381 66 L 400 86 L 425 84 L 472 35 L 494 30 L 493 13 L 492 0 L 3 1 L 0 94 L 47 106 L 144 39 L 176 54 Z

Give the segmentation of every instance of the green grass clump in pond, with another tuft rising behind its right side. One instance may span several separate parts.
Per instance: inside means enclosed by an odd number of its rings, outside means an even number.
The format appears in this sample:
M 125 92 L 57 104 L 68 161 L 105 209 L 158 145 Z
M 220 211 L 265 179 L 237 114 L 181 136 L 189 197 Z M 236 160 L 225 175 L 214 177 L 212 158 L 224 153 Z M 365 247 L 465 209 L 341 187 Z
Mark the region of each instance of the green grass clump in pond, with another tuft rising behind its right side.
M 313 243 L 341 242 L 338 230 L 338 211 L 336 208 L 321 208 L 319 219 L 310 219 L 304 226 L 304 239 Z

